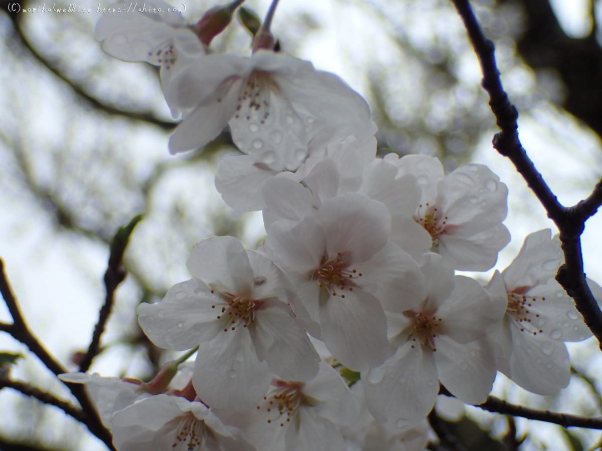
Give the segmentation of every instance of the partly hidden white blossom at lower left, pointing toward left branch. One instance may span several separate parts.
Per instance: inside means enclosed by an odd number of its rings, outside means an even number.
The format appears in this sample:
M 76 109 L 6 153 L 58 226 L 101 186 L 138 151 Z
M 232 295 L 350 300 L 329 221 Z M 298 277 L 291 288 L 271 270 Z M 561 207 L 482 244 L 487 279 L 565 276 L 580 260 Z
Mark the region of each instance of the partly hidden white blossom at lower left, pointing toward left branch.
M 85 385 L 88 396 L 107 428 L 110 428 L 111 417 L 116 411 L 132 405 L 139 399 L 151 396 L 147 391 L 140 390 L 138 384 L 118 378 L 103 377 L 98 373 L 64 373 L 58 375 L 58 378 L 63 382 Z

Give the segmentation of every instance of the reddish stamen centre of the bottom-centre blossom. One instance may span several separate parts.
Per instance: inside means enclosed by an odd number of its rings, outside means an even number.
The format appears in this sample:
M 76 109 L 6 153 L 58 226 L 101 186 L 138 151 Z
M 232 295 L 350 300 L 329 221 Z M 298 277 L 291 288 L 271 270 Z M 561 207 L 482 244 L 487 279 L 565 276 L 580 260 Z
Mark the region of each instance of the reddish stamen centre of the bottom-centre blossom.
M 268 423 L 284 426 L 294 419 L 299 407 L 311 405 L 303 394 L 303 382 L 281 381 L 274 379 L 272 388 L 264 396 L 264 400 L 257 406 L 258 410 L 264 409 L 268 413 Z

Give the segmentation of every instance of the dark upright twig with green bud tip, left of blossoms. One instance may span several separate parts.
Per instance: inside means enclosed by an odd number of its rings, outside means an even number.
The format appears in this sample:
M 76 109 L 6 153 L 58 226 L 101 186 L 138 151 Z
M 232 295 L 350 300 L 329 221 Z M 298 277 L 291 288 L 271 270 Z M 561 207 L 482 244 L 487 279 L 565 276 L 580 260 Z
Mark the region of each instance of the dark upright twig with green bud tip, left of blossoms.
M 90 342 L 88 351 L 85 353 L 81 364 L 79 364 L 79 371 L 81 372 L 85 373 L 90 368 L 93 358 L 95 358 L 101 350 L 101 336 L 105 331 L 105 325 L 111 314 L 111 308 L 113 308 L 115 290 L 126 276 L 125 269 L 122 267 L 123 253 L 125 253 L 125 248 L 128 245 L 129 236 L 141 219 L 142 215 L 135 216 L 126 227 L 119 227 L 119 230 L 117 230 L 115 238 L 113 239 L 113 243 L 111 243 L 108 268 L 104 277 L 107 296 L 105 297 L 105 303 L 102 305 L 98 315 L 98 323 L 96 323 L 94 333 L 92 334 L 92 342 Z

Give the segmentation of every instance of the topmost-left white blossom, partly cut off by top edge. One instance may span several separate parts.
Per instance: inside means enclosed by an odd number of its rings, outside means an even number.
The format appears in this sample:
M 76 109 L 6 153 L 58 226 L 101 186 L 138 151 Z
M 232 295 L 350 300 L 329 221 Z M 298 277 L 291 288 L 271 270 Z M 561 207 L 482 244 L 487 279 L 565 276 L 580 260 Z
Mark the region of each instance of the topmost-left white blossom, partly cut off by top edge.
M 102 50 L 122 61 L 146 61 L 160 66 L 164 88 L 169 88 L 169 81 L 175 73 L 196 58 L 205 56 L 205 47 L 199 37 L 172 5 L 162 0 L 151 0 L 144 2 L 144 8 L 142 5 L 133 8 L 129 4 L 127 7 L 114 4 L 110 8 L 120 8 L 122 12 L 102 14 L 96 23 L 95 37 L 102 41 Z M 164 93 L 173 117 L 178 117 L 181 111 L 170 99 L 171 92 L 166 89 Z

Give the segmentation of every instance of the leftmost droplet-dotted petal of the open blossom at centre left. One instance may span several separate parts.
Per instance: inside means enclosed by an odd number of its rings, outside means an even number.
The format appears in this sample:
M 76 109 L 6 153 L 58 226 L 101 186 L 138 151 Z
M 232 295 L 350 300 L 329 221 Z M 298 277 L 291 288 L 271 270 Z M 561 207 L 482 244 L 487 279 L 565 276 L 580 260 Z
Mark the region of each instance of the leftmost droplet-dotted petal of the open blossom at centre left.
M 218 306 L 224 304 L 220 296 L 194 278 L 175 284 L 163 301 L 138 305 L 138 323 L 160 348 L 185 351 L 216 336 L 221 329 L 216 318 Z

